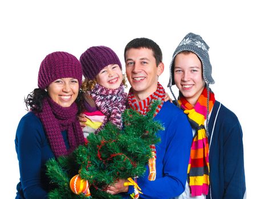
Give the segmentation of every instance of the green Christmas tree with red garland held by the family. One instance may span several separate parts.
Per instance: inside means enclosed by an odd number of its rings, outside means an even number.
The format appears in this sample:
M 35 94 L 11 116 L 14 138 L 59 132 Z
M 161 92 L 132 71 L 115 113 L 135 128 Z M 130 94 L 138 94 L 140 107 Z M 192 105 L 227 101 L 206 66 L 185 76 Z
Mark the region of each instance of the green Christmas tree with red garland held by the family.
M 147 115 L 125 110 L 123 130 L 109 122 L 98 134 L 90 134 L 88 143 L 71 155 L 47 161 L 47 175 L 56 185 L 48 194 L 49 198 L 87 198 L 70 189 L 70 180 L 78 173 L 88 180 L 92 198 L 121 198 L 108 194 L 105 188 L 117 179 L 144 175 L 145 165 L 152 157 L 150 146 L 160 141 L 156 133 L 164 129 L 153 120 L 159 103 L 155 101 Z

